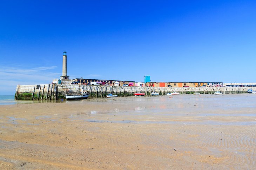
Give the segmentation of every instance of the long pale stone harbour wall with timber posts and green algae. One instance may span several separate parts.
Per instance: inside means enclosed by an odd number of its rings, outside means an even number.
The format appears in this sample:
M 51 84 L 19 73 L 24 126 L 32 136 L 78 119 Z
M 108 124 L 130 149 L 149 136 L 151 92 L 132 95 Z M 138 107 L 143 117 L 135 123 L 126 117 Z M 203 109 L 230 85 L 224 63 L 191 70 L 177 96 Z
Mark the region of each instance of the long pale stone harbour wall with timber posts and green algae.
M 15 99 L 27 100 L 54 100 L 65 99 L 67 94 L 79 95 L 81 91 L 88 91 L 89 98 L 107 97 L 108 94 L 114 94 L 121 97 L 134 96 L 134 93 L 141 92 L 150 95 L 156 91 L 159 95 L 165 95 L 171 92 L 180 94 L 213 94 L 215 91 L 221 91 L 223 94 L 247 93 L 248 89 L 256 90 L 256 87 L 133 87 L 133 86 L 88 86 L 77 84 L 33 84 L 18 85 L 16 87 Z

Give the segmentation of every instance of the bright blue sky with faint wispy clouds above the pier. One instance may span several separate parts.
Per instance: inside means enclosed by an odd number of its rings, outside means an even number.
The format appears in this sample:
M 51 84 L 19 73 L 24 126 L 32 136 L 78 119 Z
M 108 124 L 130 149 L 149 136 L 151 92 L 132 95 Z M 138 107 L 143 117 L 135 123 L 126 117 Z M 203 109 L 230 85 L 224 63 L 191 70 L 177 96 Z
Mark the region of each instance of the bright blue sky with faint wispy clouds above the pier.
M 256 1 L 1 1 L 0 95 L 70 79 L 256 82 Z

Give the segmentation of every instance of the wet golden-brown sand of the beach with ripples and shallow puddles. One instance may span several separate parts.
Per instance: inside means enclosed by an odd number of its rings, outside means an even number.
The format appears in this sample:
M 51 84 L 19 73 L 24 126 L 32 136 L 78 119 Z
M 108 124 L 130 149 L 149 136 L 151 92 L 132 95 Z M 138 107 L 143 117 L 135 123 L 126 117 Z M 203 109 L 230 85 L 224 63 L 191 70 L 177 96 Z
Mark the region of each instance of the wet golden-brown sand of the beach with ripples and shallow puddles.
M 0 169 L 256 169 L 256 95 L 0 106 Z

